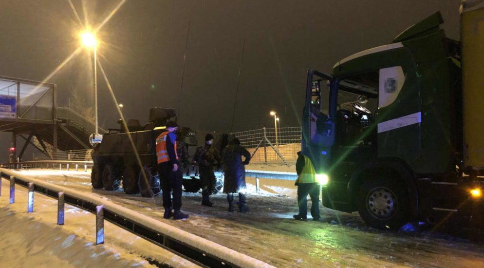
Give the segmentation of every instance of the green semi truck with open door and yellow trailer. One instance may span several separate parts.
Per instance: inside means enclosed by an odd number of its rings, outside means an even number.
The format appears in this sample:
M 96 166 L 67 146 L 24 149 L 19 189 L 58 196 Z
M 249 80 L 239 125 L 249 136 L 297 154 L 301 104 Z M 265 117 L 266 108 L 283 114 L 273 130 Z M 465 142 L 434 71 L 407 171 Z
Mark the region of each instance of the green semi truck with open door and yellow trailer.
M 323 206 L 379 229 L 482 223 L 484 1 L 463 1 L 460 41 L 442 23 L 308 71 L 301 145 Z

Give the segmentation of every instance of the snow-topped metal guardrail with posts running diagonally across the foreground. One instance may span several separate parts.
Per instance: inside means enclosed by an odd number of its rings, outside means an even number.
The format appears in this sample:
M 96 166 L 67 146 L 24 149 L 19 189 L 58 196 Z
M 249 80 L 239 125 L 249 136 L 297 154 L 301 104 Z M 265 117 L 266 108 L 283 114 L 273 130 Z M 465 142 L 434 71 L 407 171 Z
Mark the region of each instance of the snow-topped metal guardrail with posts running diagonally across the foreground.
M 104 220 L 107 220 L 201 266 L 272 267 L 260 260 L 103 200 L 92 194 L 73 191 L 3 168 L 0 168 L 0 194 L 1 178 L 10 181 L 10 204 L 15 202 L 15 186 L 17 184 L 28 188 L 28 212 L 34 211 L 35 192 L 57 199 L 58 225 L 64 224 L 65 203 L 94 213 L 96 215 L 96 245 L 104 243 Z

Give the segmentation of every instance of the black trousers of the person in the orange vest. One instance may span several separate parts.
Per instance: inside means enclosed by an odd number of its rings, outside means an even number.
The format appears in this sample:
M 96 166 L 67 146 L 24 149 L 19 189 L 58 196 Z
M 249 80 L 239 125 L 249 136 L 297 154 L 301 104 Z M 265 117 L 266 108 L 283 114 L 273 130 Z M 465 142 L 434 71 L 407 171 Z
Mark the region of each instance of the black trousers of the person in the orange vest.
M 166 210 L 173 208 L 175 211 L 179 211 L 182 208 L 182 171 L 180 168 L 173 171 L 173 165 L 164 162 L 158 164 L 158 174 L 160 175 L 160 187 L 163 191 L 163 207 Z M 173 201 L 171 200 L 172 193 Z

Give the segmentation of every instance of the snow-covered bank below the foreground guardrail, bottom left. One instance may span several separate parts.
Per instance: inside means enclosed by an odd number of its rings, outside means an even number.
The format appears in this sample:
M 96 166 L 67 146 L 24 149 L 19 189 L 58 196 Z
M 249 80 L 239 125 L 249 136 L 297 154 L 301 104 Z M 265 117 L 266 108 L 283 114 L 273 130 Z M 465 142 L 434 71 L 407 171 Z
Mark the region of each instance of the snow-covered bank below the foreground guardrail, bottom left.
M 16 187 L 9 204 L 9 182 L 0 197 L 0 267 L 198 267 L 167 250 L 105 222 L 104 245 L 95 246 L 95 216 L 66 205 L 58 226 L 57 201 L 35 195 L 27 214 L 27 190 Z

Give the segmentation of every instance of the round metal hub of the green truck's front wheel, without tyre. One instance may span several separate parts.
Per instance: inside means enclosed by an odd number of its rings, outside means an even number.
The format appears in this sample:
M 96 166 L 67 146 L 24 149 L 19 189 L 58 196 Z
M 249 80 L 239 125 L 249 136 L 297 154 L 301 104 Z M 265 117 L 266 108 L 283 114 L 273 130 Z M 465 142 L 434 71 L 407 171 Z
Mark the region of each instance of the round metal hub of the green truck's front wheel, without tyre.
M 396 195 L 386 187 L 372 189 L 366 198 L 367 210 L 378 219 L 391 218 L 397 209 Z

